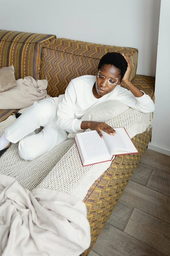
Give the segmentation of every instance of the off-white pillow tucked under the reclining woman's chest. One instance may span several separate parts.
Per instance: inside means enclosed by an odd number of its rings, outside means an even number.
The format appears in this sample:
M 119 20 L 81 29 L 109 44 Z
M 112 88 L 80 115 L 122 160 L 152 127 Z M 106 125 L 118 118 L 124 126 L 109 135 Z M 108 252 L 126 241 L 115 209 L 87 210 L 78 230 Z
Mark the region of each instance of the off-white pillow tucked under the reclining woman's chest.
M 82 121 L 104 122 L 112 119 L 124 111 L 128 110 L 129 106 L 119 100 L 107 100 L 101 104 L 90 108 L 81 118 Z M 67 138 L 75 138 L 76 133 L 84 132 L 81 130 L 75 133 L 69 133 Z

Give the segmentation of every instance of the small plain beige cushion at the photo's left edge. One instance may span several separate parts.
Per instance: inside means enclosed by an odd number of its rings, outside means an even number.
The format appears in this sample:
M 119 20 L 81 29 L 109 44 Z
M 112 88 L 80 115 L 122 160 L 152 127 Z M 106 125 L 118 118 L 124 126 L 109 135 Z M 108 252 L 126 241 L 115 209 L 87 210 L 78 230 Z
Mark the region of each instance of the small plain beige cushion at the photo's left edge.
M 0 69 L 0 93 L 17 85 L 14 73 L 13 65 Z

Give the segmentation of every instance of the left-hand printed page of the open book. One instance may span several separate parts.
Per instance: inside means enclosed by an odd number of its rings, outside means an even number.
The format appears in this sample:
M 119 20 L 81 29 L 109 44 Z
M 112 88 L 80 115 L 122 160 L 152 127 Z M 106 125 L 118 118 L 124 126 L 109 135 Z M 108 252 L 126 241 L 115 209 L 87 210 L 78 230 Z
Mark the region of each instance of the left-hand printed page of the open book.
M 110 153 L 106 147 L 104 140 L 96 131 L 90 131 L 77 134 L 82 153 L 86 153 L 88 158 L 106 156 Z M 82 145 L 83 144 L 83 147 Z

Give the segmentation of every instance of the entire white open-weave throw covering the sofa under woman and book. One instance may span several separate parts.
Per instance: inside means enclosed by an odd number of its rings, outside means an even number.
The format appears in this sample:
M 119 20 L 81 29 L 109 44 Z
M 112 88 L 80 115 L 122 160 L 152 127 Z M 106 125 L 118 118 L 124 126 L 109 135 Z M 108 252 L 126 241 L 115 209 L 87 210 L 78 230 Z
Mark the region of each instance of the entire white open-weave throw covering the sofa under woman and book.
M 0 136 L 14 120 L 15 117 L 10 116 L 0 123 Z M 106 123 L 113 128 L 125 127 L 132 138 L 152 127 L 152 114 L 129 108 Z M 0 158 L 0 173 L 15 177 L 29 190 L 39 184 L 38 187 L 63 191 L 83 200 L 94 181 L 106 171 L 110 163 L 83 167 L 73 139 L 64 141 L 34 161 L 24 161 L 18 154 L 16 143 Z

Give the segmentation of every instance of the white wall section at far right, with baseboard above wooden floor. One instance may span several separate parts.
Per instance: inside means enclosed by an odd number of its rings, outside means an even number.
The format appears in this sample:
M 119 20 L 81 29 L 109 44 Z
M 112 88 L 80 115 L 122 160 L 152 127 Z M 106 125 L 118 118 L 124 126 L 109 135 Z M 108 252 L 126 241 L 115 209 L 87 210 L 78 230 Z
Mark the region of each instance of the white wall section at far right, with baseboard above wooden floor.
M 155 83 L 155 111 L 148 148 L 170 156 L 170 1 L 161 0 L 158 56 Z

